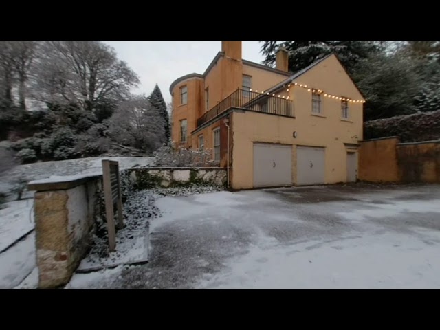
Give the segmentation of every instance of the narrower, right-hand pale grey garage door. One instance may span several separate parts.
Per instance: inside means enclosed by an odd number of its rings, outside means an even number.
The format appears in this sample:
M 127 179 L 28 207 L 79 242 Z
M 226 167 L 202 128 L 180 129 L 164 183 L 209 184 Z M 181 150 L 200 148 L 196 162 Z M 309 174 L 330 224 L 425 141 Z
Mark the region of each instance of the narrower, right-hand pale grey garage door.
M 297 184 L 324 184 L 325 148 L 296 147 Z

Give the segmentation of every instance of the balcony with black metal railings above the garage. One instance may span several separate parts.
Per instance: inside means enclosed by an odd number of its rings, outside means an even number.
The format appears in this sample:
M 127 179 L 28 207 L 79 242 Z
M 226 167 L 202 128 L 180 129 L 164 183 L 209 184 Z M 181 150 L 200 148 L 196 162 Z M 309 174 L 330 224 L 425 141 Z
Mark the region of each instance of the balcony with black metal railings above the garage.
M 205 124 L 230 108 L 245 109 L 272 115 L 294 117 L 294 102 L 285 98 L 278 98 L 267 94 L 237 89 L 230 96 L 219 102 L 215 107 L 206 111 L 197 119 L 197 127 Z

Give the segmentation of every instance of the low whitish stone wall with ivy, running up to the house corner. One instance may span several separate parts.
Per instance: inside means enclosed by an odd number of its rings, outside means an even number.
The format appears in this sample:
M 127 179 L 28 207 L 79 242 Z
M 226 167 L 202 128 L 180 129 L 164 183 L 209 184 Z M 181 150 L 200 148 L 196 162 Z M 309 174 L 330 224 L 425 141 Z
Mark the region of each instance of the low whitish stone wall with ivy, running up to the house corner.
M 137 189 L 185 187 L 193 184 L 225 186 L 225 168 L 131 168 L 131 183 Z

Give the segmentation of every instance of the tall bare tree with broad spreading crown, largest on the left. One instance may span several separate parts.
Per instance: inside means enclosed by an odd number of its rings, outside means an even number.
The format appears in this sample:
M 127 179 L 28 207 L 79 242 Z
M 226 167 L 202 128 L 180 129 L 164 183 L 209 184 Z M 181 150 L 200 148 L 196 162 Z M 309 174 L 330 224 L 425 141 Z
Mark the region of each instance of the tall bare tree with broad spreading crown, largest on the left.
M 41 53 L 37 84 L 51 102 L 79 103 L 94 111 L 102 102 L 123 100 L 139 83 L 115 50 L 99 41 L 50 41 Z

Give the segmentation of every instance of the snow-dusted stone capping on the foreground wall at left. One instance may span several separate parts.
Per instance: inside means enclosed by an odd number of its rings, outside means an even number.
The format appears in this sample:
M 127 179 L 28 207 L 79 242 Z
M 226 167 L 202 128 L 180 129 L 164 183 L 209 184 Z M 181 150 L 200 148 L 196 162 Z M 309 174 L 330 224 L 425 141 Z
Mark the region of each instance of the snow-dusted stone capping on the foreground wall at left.
M 67 190 L 85 184 L 88 181 L 100 179 L 102 174 L 84 174 L 72 176 L 56 176 L 47 179 L 30 181 L 28 190 L 50 191 L 50 190 Z

